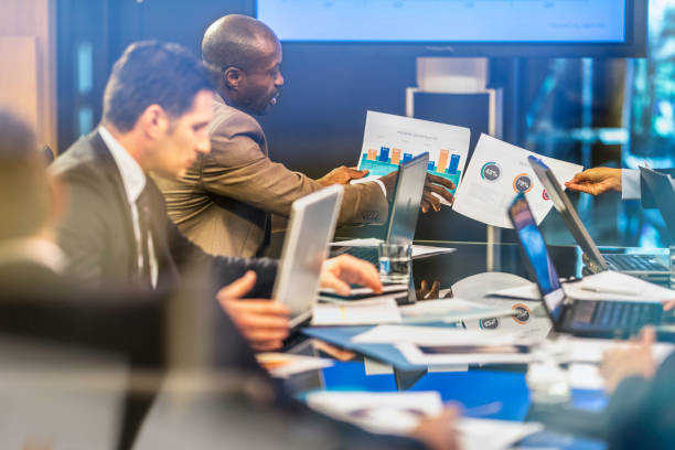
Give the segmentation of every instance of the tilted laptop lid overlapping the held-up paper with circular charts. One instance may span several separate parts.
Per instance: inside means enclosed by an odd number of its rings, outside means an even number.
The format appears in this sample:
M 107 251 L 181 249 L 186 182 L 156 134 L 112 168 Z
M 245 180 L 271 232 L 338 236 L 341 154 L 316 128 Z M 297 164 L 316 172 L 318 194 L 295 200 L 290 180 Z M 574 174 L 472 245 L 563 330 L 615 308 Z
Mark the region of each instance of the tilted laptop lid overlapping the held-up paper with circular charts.
M 565 190 L 560 188 L 560 183 L 558 183 L 558 180 L 554 175 L 550 168 L 539 158 L 529 156 L 527 160 L 535 174 L 544 185 L 546 194 L 550 197 L 554 207 L 558 211 L 558 213 L 560 213 L 562 221 L 565 221 L 565 225 L 567 225 L 567 228 L 575 237 L 575 240 L 577 244 L 579 244 L 579 247 L 581 247 L 581 250 L 583 250 L 583 253 L 593 264 L 596 264 L 602 270 L 607 270 L 607 261 L 600 254 L 600 249 L 590 237 L 590 234 L 577 214 L 577 210 L 575 210 L 575 206 L 565 193 Z

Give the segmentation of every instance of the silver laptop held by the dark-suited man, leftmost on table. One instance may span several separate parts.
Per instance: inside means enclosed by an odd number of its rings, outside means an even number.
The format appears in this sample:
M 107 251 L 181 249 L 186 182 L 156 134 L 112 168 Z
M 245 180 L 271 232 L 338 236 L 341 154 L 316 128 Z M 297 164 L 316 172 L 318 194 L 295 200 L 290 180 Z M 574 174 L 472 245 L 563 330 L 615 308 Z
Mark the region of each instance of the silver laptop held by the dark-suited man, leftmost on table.
M 272 294 L 290 309 L 291 328 L 311 317 L 343 192 L 340 185 L 330 186 L 294 201 L 291 206 Z

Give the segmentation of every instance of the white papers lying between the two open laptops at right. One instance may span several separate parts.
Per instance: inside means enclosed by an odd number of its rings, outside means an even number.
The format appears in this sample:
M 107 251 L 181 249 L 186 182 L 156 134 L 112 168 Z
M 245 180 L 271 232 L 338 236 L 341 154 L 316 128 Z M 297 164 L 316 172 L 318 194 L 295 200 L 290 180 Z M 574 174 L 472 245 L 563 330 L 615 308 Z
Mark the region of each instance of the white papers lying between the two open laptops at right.
M 565 294 L 576 300 L 661 302 L 675 300 L 675 291 L 626 274 L 606 270 L 562 285 Z

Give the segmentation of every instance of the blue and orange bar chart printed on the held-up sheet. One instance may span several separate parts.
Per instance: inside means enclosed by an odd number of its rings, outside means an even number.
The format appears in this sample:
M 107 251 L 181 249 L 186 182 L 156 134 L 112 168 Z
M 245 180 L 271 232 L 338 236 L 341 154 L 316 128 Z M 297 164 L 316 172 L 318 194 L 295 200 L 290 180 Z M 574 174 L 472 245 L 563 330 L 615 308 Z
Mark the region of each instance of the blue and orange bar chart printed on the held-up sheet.
M 398 170 L 398 164 L 413 159 L 411 153 L 406 153 L 401 149 L 381 147 L 379 151 L 368 150 L 361 157 L 360 170 L 367 169 L 368 175 L 384 176 Z M 450 192 L 454 194 L 459 184 L 462 171 L 458 170 L 460 163 L 459 154 L 450 154 L 448 150 L 441 150 L 438 161 L 429 161 L 428 173 L 442 176 L 454 183 L 454 189 Z

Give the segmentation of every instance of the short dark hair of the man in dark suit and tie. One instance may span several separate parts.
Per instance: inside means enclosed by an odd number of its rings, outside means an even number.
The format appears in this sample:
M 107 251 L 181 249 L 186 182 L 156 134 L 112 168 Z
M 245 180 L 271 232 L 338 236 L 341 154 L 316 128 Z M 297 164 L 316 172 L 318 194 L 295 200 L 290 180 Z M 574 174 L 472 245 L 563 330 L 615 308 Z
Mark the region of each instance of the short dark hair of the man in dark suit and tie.
M 208 72 L 179 44 L 144 41 L 127 47 L 113 66 L 104 94 L 104 122 L 129 131 L 150 106 L 181 117 L 201 90 L 213 90 Z

